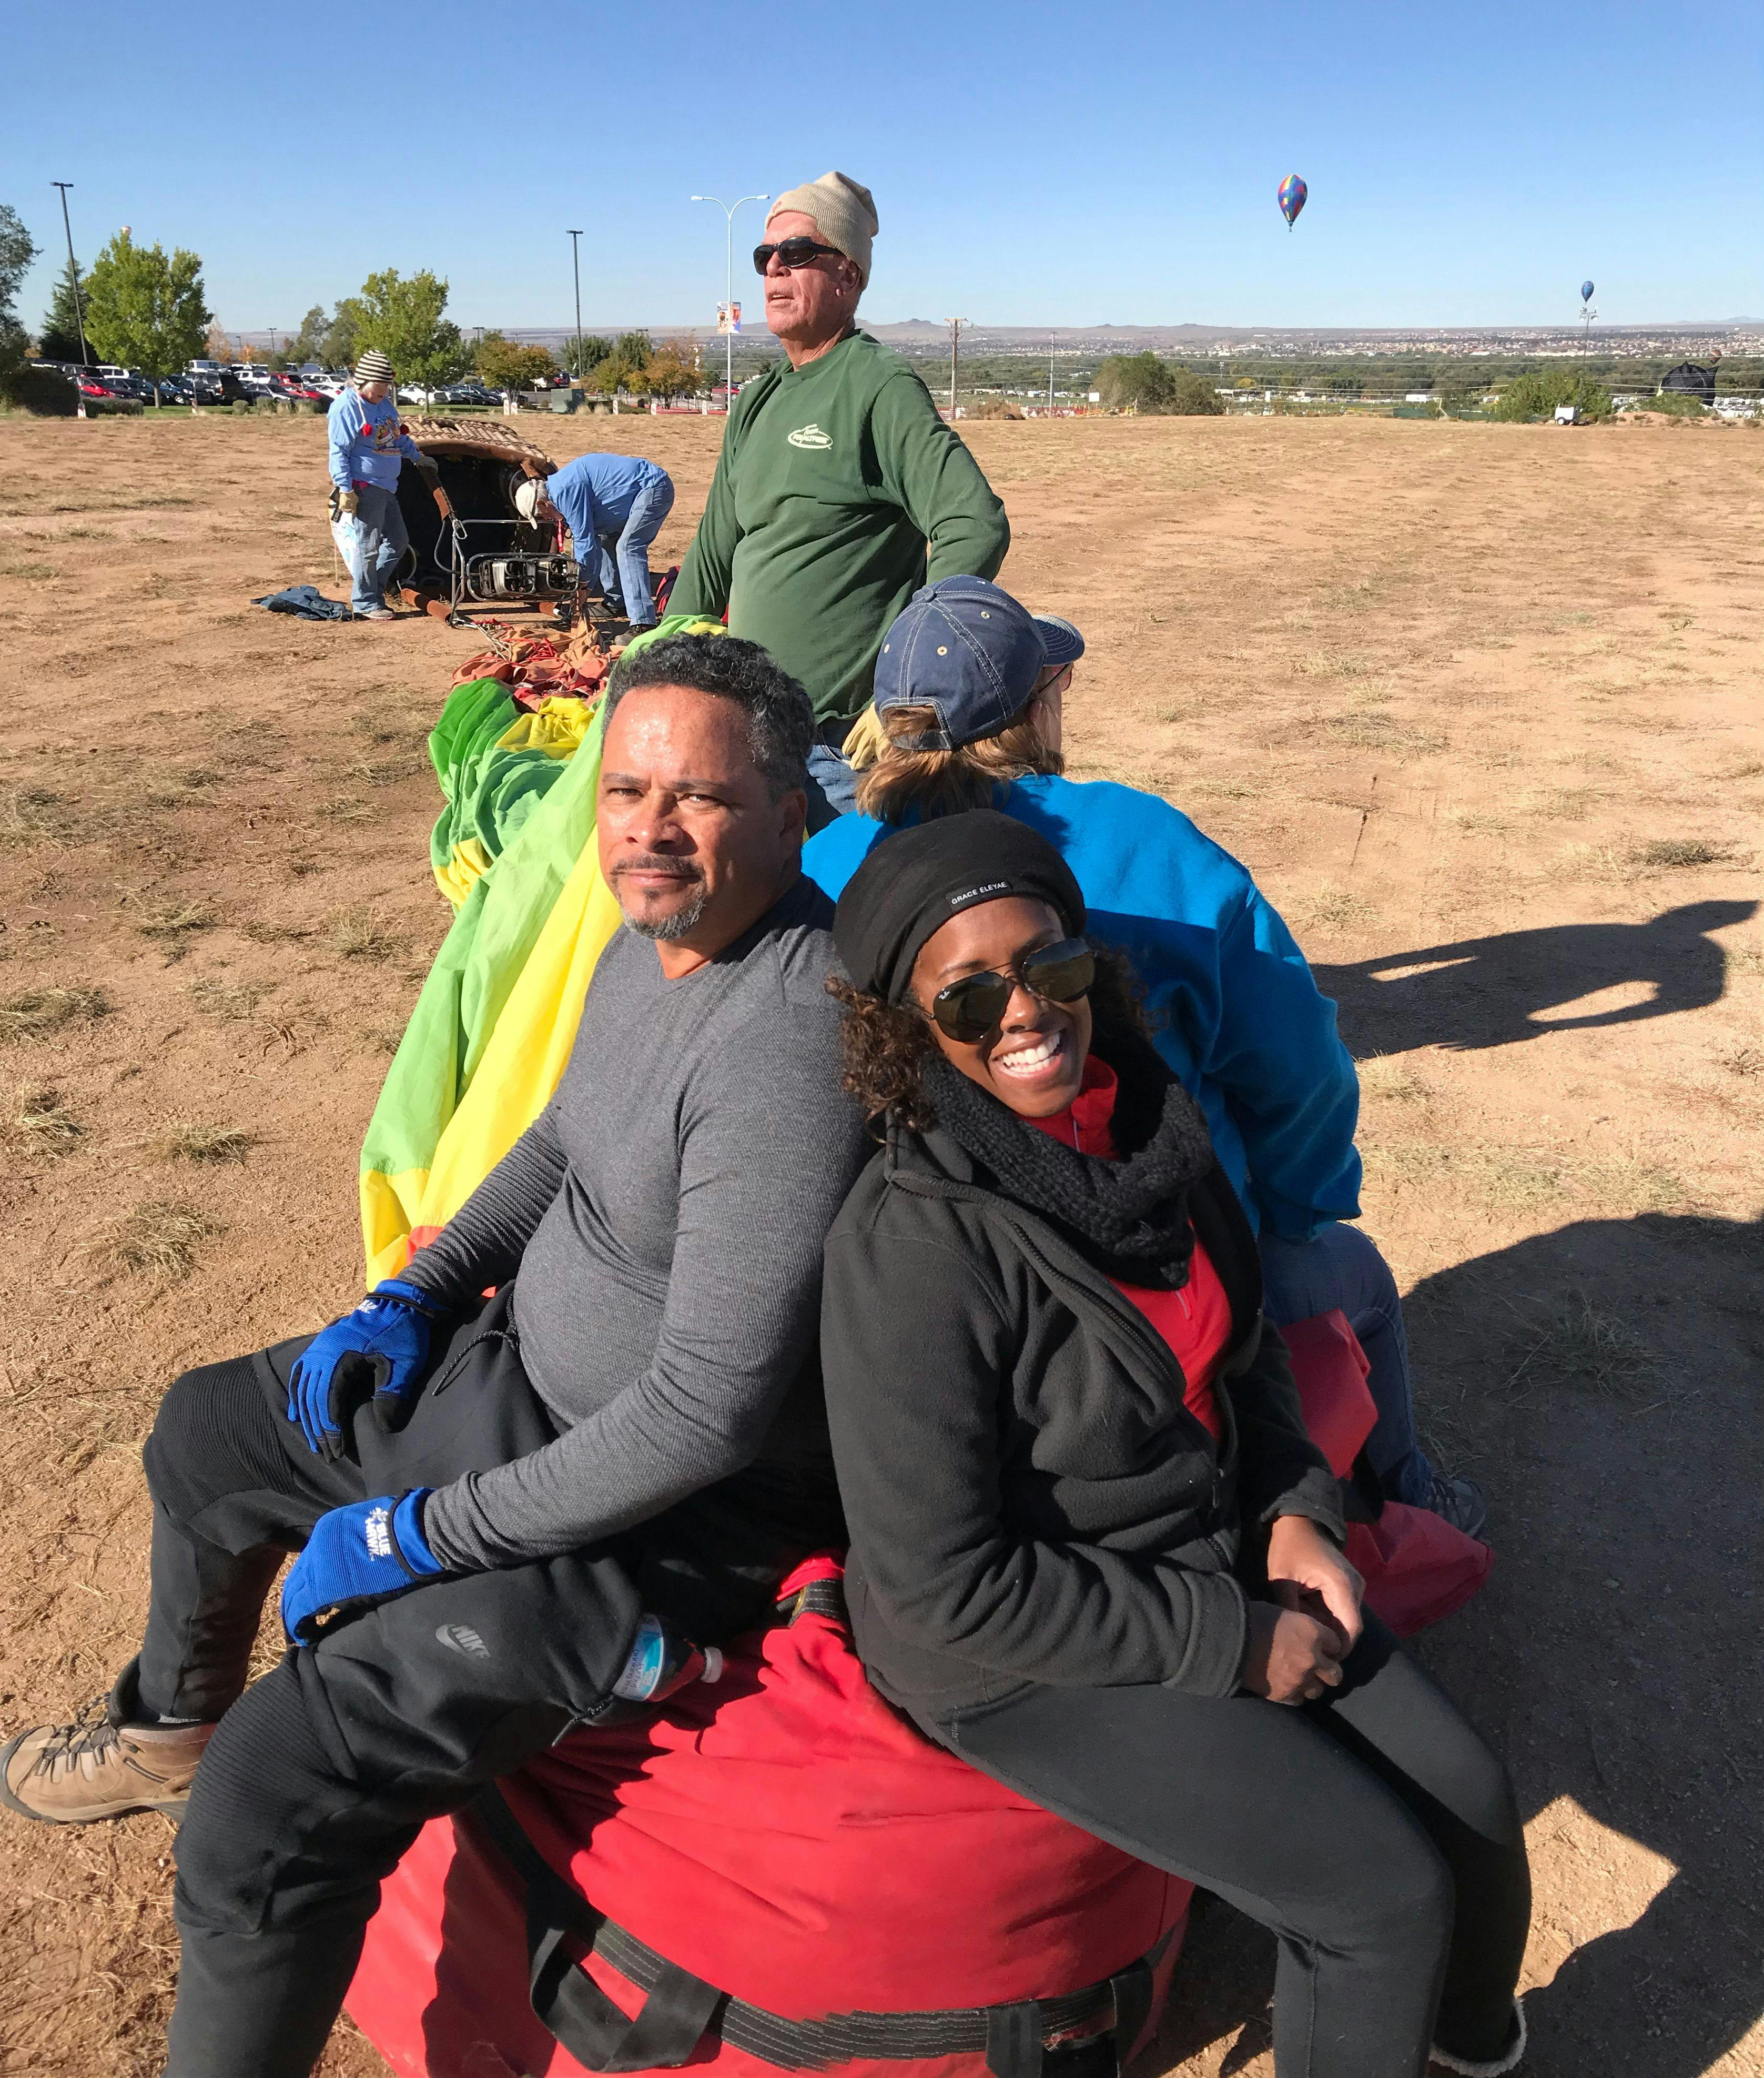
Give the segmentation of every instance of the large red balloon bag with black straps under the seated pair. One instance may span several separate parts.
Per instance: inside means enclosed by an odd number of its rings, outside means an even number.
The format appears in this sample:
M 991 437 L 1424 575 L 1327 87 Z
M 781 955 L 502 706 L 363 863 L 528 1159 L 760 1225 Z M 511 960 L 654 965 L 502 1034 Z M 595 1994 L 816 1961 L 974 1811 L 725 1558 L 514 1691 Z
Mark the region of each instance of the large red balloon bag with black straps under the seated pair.
M 399 2078 L 1110 2078 L 1149 2039 L 1191 1887 L 923 1737 L 814 1567 L 721 1681 L 424 1829 L 349 1991 Z

